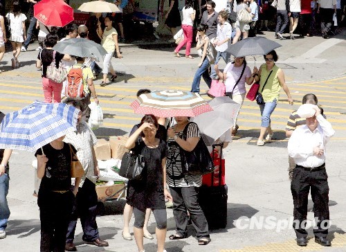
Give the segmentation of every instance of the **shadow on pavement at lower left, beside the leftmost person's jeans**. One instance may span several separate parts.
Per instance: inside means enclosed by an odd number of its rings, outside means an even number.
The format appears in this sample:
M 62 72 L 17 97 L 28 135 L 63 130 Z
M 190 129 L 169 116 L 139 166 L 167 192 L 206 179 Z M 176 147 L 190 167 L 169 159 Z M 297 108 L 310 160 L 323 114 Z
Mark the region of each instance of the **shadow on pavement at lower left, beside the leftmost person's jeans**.
M 18 238 L 28 237 L 29 235 L 41 231 L 39 219 L 14 219 L 8 221 L 7 235 L 19 235 Z

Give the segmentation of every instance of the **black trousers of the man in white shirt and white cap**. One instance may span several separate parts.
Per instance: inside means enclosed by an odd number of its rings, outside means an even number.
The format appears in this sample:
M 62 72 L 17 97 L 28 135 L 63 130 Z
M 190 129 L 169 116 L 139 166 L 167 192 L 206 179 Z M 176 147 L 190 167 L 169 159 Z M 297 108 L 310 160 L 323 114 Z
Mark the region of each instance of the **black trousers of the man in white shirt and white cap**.
M 305 224 L 307 219 L 307 202 L 311 188 L 313 211 L 315 219 L 318 218 L 313 228 L 315 237 L 327 237 L 329 225 L 329 186 L 325 169 L 319 171 L 307 171 L 296 167 L 293 170 L 291 192 L 293 197 L 293 228 L 297 238 L 307 237 Z M 322 225 L 321 225 L 322 224 Z

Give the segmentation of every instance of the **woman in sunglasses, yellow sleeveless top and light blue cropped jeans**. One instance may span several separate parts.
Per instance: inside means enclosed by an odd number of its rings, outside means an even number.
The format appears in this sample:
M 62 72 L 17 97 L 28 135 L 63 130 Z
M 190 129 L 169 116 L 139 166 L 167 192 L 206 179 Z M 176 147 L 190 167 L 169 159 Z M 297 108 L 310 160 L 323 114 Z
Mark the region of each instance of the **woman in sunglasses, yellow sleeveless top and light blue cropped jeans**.
M 266 64 L 260 66 L 260 70 L 256 67 L 253 69 L 253 78 L 255 82 L 260 82 L 260 89 L 258 89 L 258 95 L 263 97 L 263 102 L 257 100 L 257 104 L 260 105 L 262 123 L 260 137 L 258 138 L 257 145 L 264 145 L 264 135 L 266 133 L 266 141 L 271 141 L 273 138 L 273 130 L 271 129 L 271 114 L 273 113 L 277 101 L 279 100 L 280 91 L 284 89 L 287 95 L 289 104 L 293 105 L 293 99 L 289 88 L 284 80 L 284 71 L 279 69 L 275 62 L 277 62 L 277 54 L 275 51 L 271 51 L 264 55 L 264 60 Z M 262 104 L 260 104 L 262 103 Z

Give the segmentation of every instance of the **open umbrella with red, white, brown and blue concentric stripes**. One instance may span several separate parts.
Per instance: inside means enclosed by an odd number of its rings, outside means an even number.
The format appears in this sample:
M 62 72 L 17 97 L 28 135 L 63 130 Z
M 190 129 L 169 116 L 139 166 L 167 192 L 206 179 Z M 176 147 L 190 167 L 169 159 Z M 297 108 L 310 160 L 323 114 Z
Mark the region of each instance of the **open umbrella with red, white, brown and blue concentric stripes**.
M 131 103 L 131 107 L 137 114 L 153 114 L 159 117 L 194 117 L 212 111 L 199 93 L 178 90 L 143 93 Z

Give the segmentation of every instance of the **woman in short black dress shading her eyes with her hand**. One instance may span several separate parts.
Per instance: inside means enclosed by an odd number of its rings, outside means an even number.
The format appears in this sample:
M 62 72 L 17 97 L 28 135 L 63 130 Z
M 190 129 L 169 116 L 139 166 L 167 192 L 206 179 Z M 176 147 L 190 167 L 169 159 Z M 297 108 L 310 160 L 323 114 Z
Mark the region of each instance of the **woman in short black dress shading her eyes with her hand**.
M 143 226 L 145 210 L 152 208 L 156 220 L 156 239 L 158 252 L 165 248 L 167 233 L 167 213 L 165 198 L 172 200 L 166 188 L 166 145 L 155 138 L 158 123 L 153 115 L 142 118 L 140 127 L 129 136 L 125 147 L 145 159 L 145 169 L 141 180 L 131 180 L 127 203 L 134 207 L 134 237 L 139 251 L 144 251 Z M 138 136 L 141 136 L 138 138 Z

